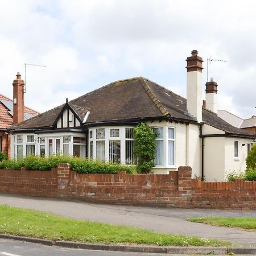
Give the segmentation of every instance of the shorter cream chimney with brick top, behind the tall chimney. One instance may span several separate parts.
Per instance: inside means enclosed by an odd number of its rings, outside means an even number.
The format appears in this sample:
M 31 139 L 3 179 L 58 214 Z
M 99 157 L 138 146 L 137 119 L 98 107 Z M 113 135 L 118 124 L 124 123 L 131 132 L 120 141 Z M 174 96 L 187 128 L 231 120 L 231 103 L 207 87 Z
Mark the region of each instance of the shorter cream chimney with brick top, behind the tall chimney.
M 205 86 L 205 108 L 217 113 L 217 82 L 214 82 L 211 77 L 210 82 L 207 82 Z

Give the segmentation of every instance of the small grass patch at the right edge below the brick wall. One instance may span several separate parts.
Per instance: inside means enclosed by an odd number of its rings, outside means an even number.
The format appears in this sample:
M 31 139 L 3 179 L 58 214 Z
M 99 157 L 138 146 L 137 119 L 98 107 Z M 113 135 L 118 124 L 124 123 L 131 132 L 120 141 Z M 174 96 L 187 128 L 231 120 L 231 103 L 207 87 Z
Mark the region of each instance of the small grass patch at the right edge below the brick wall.
M 256 218 L 248 217 L 204 217 L 189 218 L 189 221 L 210 224 L 213 226 L 226 226 L 228 228 L 242 228 L 256 231 Z

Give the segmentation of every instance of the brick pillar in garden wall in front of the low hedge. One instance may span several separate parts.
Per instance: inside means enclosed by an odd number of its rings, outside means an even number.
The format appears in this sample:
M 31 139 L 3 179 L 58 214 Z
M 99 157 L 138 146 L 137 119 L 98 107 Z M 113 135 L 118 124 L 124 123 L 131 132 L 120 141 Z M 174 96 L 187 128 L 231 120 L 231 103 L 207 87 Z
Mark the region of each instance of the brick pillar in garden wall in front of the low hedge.
M 57 164 L 58 196 L 68 197 L 71 167 L 69 163 Z

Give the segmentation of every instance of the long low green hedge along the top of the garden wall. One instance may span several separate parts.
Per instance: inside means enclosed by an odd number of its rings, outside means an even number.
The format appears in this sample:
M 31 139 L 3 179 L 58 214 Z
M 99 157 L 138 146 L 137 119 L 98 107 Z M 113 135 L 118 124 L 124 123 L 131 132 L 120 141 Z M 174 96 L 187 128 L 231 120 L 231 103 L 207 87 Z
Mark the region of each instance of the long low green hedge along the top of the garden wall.
M 3 160 L 0 162 L 1 169 L 47 171 L 57 167 L 58 163 L 70 163 L 71 169 L 84 174 L 116 174 L 118 171 L 126 171 L 127 174 L 135 172 L 135 167 L 124 166 L 115 163 L 103 163 L 95 160 L 84 160 L 73 156 L 56 155 L 48 158 L 39 155 L 28 155 L 22 159 Z

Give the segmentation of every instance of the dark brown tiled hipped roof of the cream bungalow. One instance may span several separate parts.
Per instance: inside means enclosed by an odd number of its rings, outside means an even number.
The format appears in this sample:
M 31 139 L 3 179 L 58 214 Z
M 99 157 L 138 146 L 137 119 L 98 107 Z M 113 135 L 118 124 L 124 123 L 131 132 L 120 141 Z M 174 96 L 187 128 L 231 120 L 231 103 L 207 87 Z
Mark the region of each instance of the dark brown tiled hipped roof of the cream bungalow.
M 90 111 L 85 124 L 94 122 L 135 121 L 169 118 L 181 122 L 196 122 L 186 112 L 185 98 L 144 77 L 119 80 L 69 102 L 81 120 Z M 51 127 L 64 104 L 20 123 L 15 129 Z M 229 134 L 249 135 L 217 114 L 203 108 L 203 122 Z

